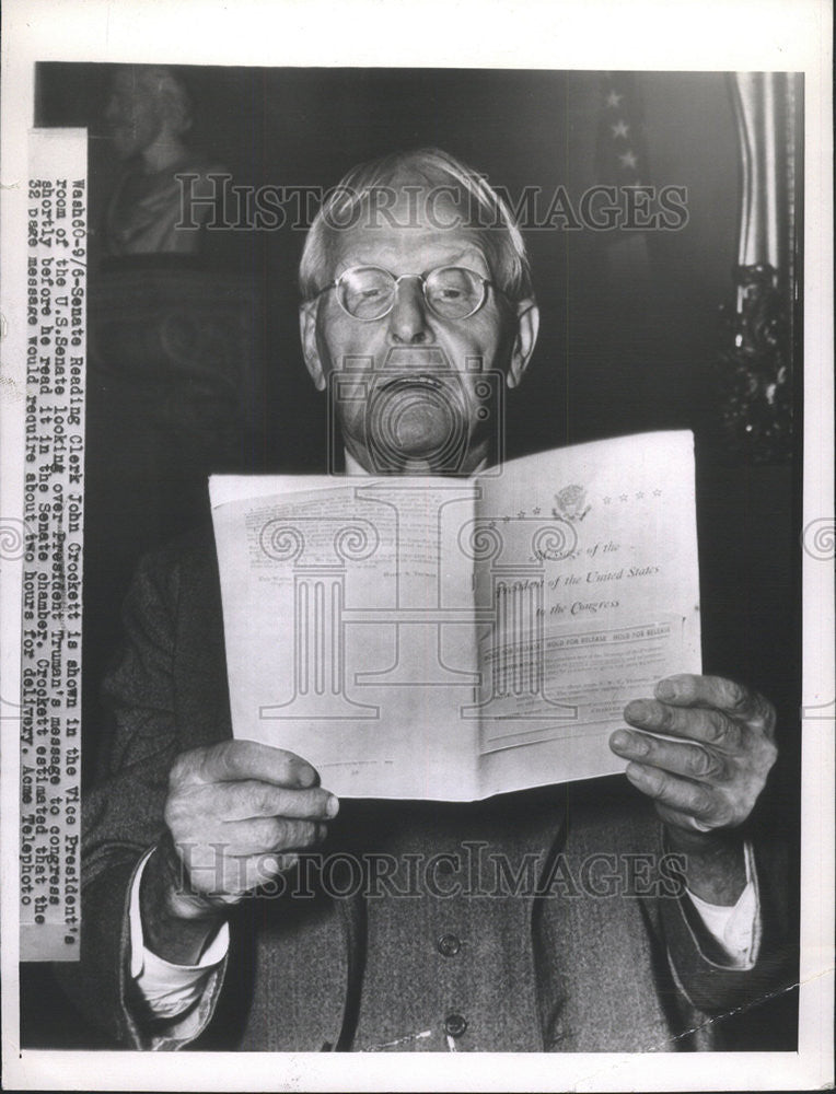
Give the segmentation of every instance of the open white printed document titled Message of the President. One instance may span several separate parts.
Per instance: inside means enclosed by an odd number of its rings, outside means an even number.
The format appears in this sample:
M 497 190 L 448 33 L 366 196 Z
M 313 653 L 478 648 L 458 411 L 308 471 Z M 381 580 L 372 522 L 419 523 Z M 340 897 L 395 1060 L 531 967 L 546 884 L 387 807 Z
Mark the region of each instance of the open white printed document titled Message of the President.
M 622 770 L 632 698 L 699 672 L 689 432 L 486 477 L 210 480 L 236 736 L 355 798 Z

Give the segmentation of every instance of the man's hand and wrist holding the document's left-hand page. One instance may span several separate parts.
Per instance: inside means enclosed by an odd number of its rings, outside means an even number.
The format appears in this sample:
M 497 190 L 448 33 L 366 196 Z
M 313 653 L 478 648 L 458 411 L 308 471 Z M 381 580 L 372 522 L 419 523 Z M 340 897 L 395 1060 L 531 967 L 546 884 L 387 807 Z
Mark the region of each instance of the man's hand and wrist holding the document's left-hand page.
M 194 964 L 225 909 L 316 846 L 339 808 L 317 783 L 306 760 L 253 741 L 182 753 L 140 887 L 148 948 Z

